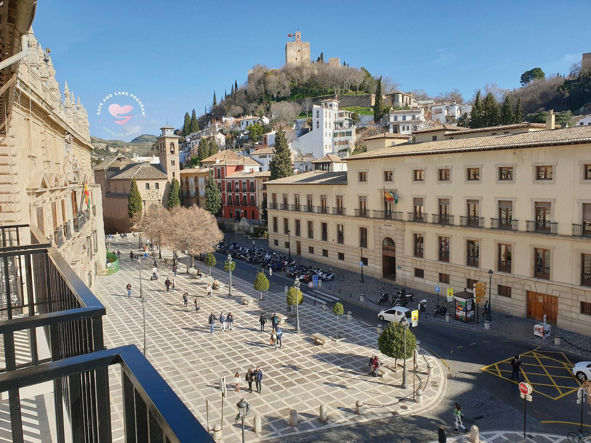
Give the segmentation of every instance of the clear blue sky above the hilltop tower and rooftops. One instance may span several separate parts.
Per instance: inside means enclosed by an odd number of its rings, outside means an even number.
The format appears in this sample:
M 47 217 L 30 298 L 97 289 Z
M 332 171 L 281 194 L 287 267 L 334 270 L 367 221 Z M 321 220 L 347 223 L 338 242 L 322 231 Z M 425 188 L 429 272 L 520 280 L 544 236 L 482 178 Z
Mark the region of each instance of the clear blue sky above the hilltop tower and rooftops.
M 323 51 L 391 76 L 402 90 L 458 87 L 468 98 L 485 83 L 519 87 L 536 66 L 568 73 L 591 52 L 590 16 L 589 1 L 41 0 L 33 30 L 51 49 L 60 89 L 67 80 L 88 109 L 90 133 L 116 138 L 102 128 L 121 126 L 105 110 L 96 115 L 109 93 L 142 100 L 145 116 L 136 106 L 129 122 L 138 133 L 157 134 L 167 119 L 178 128 L 185 112 L 203 113 L 213 90 L 219 100 L 235 79 L 245 82 L 253 64 L 280 67 L 297 29 L 313 58 Z

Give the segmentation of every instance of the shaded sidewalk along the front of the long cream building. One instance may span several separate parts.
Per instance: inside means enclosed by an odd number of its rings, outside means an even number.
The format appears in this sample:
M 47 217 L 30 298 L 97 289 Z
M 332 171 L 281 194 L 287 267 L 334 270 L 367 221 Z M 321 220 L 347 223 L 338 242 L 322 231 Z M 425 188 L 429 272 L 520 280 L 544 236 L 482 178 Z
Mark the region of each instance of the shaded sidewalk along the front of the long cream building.
M 245 239 L 243 236 L 238 234 L 226 234 L 227 241 L 236 242 L 242 246 L 252 247 L 252 240 Z M 266 239 L 255 240 L 257 247 L 264 247 L 269 249 L 268 242 Z M 301 263 L 319 263 L 312 262 L 306 258 L 295 256 L 297 262 Z M 323 268 L 328 268 L 328 265 L 319 263 Z M 378 306 L 377 301 L 381 292 L 387 292 L 390 296 L 395 294 L 400 285 L 395 282 L 387 282 L 376 279 L 372 276 L 363 276 L 365 283 L 361 283 L 361 274 L 351 271 L 345 271 L 344 269 L 335 268 L 339 276 L 336 276 L 335 280 L 330 282 L 324 282 L 322 288 L 319 288 L 320 292 L 324 292 L 335 297 L 343 298 L 353 304 L 362 305 L 369 307 L 373 310 L 380 311 L 389 304 Z M 434 307 L 437 305 L 437 295 L 430 294 L 424 291 L 418 291 L 417 289 L 411 289 L 411 292 L 415 295 L 415 301 L 409 304 L 408 307 L 416 308 L 416 304 L 421 299 L 427 299 L 427 314 L 430 315 L 429 321 L 435 321 L 439 323 L 445 323 L 445 316 L 431 317 Z M 361 302 L 359 295 L 365 296 L 365 301 Z M 439 296 L 439 304 L 446 305 L 447 301 L 445 297 Z M 552 327 L 550 337 L 546 340 L 542 340 L 541 337 L 536 337 L 533 334 L 534 325 L 539 323 L 538 321 L 531 320 L 529 318 L 515 317 L 514 315 L 504 314 L 503 312 L 496 312 L 493 305 L 492 310 L 492 323 L 490 332 L 492 334 L 501 335 L 507 338 L 517 338 L 520 341 L 526 340 L 534 344 L 534 346 L 549 346 L 560 350 L 566 350 L 574 354 L 579 354 L 584 358 L 589 358 L 591 355 L 591 337 L 586 335 L 573 333 L 571 331 L 563 330 L 557 327 Z M 452 317 L 450 325 L 454 327 L 468 328 L 472 330 L 484 330 L 484 318 L 482 312 L 480 312 L 480 322 L 477 323 L 462 323 L 456 321 Z M 561 337 L 562 343 L 560 346 L 554 345 L 554 337 Z

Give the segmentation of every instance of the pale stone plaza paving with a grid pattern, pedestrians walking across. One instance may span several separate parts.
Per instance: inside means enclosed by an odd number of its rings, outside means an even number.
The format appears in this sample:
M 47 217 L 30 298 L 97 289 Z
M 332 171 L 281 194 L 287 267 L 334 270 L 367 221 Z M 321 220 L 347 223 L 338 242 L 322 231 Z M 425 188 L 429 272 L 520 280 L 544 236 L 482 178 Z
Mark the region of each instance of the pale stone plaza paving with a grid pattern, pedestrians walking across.
M 129 259 L 129 247 L 113 243 L 111 249 L 121 249 L 119 272 L 111 276 L 100 276 L 96 295 L 107 308 L 104 321 L 105 344 L 109 347 L 136 344 L 143 349 L 142 307 L 139 303 L 138 263 Z M 137 249 L 135 249 L 137 252 Z M 369 377 L 366 363 L 376 350 L 377 334 L 374 328 L 363 327 L 356 321 L 347 321 L 346 315 L 339 319 L 339 334 L 346 339 L 321 347 L 313 343 L 311 334 L 334 335 L 336 317 L 323 311 L 320 305 L 309 302 L 300 306 L 301 333 L 294 333 L 295 319 L 290 318 L 282 325 L 283 347 L 275 350 L 269 347 L 269 323 L 265 333 L 260 331 L 258 318 L 265 312 L 270 319 L 273 312 L 285 312 L 285 295 L 267 295 L 262 302 L 254 301 L 242 305 L 241 297 L 249 295 L 258 300 L 259 293 L 252 289 L 252 282 L 240 279 L 241 263 L 233 273 L 233 295 L 227 295 L 228 288 L 214 291 L 207 299 L 205 287 L 211 278 L 198 280 L 194 270 L 189 274 L 179 272 L 176 278 L 176 292 L 166 292 L 164 281 L 172 279 L 170 263 L 159 260 L 159 279 L 150 281 L 153 258 L 157 253 L 141 262 L 142 294 L 147 298 L 146 333 L 148 337 L 148 359 L 162 374 L 177 395 L 196 417 L 206 426 L 205 398 L 210 401 L 209 426 L 220 423 L 221 395 L 220 377 L 226 377 L 228 398 L 224 405 L 223 432 L 228 441 L 237 441 L 241 428 L 233 419 L 238 412 L 236 402 L 242 397 L 252 402 L 253 412 L 247 419 L 251 428 L 254 415 L 262 416 L 262 433 L 248 432 L 249 441 L 260 438 L 283 437 L 300 432 L 368 421 L 387 416 L 415 414 L 436 405 L 443 398 L 446 378 L 439 362 L 431 356 L 420 359 L 417 375 L 426 381 L 423 404 L 408 400 L 384 408 L 366 408 L 363 416 L 355 415 L 355 402 L 385 405 L 397 403 L 398 399 L 410 395 L 413 377 L 409 376 L 410 388 L 402 392 L 400 382 L 402 370 L 391 377 Z M 165 254 L 170 258 L 170 253 Z M 183 258 L 180 271 L 184 271 Z M 199 262 L 196 262 L 199 266 Z M 206 271 L 202 267 L 202 271 Z M 228 281 L 228 273 L 213 269 L 213 276 L 222 284 Z M 126 297 L 125 286 L 131 282 L 132 298 Z M 190 294 L 189 307 L 183 306 L 182 294 Z M 196 314 L 193 300 L 200 296 L 201 310 Z M 232 331 L 222 332 L 219 322 L 216 331 L 210 334 L 207 318 L 210 312 L 219 316 L 233 312 L 235 323 Z M 394 365 L 392 359 L 380 355 L 385 364 Z M 427 380 L 427 361 L 434 365 L 434 375 Z M 400 363 L 400 362 L 399 362 Z M 248 393 L 244 387 L 246 369 L 260 366 L 264 372 L 262 394 Z M 412 364 L 411 364 L 412 366 Z M 241 392 L 233 391 L 233 374 L 241 375 Z M 113 399 L 113 441 L 124 441 L 122 435 L 121 374 L 111 370 Z M 417 377 L 417 387 L 418 387 Z M 321 403 L 327 405 L 329 421 L 317 419 Z M 300 413 L 300 423 L 289 425 L 290 409 Z

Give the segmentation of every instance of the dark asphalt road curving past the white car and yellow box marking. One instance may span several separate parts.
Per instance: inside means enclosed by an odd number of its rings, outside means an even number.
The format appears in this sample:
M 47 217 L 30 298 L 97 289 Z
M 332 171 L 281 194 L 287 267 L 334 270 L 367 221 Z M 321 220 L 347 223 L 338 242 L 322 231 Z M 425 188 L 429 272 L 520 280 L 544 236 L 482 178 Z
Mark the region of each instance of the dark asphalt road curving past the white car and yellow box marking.
M 216 268 L 223 269 L 223 262 L 226 257 L 216 253 L 216 259 Z M 246 281 L 254 282 L 256 272 L 260 270 L 260 266 L 238 260 L 233 274 Z M 269 278 L 269 283 L 271 285 L 271 292 L 276 294 L 283 292 L 286 285 L 290 286 L 293 284 L 293 279 L 287 278 L 287 276 L 281 275 L 281 273 L 274 272 L 271 278 Z M 308 288 L 305 284 L 302 284 L 300 289 L 302 289 L 305 295 L 308 295 L 308 297 L 304 297 L 304 303 L 313 302 L 313 289 Z M 322 291 L 322 288 L 320 288 L 320 291 Z M 317 299 L 319 303 L 324 299 L 324 301 L 327 301 L 329 307 L 332 307 L 336 301 L 340 301 L 345 308 L 345 312 L 351 311 L 353 316 L 363 323 L 372 326 L 380 323 L 377 318 L 377 307 L 376 310 L 372 310 L 371 308 L 352 303 L 348 299 L 337 299 L 337 297 L 327 294 L 323 295 L 321 293 L 317 294 Z M 484 330 L 468 330 L 454 326 L 453 324 L 442 324 L 428 319 L 425 320 L 424 318 L 420 319 L 418 327 L 413 328 L 413 333 L 421 341 L 422 346 L 425 346 L 427 350 L 436 354 L 449 368 L 450 377 L 460 382 L 469 383 L 473 390 L 482 392 L 483 398 L 493 395 L 503 400 L 517 410 L 515 413 L 522 414 L 524 400 L 519 395 L 517 383 L 509 380 L 511 373 L 502 373 L 507 377 L 505 379 L 483 371 L 481 368 L 509 359 L 516 353 L 525 354 L 528 351 L 534 350 L 534 347 L 530 343 L 521 341 L 519 338 L 506 338 L 486 333 Z M 541 366 L 525 368 L 528 372 L 540 373 L 540 376 L 531 376 L 532 379 L 536 379 L 536 382 L 550 385 L 540 386 L 540 389 L 543 389 L 548 396 L 540 395 L 536 392 L 532 393 L 532 402 L 529 402 L 527 405 L 528 416 L 540 422 L 574 422 L 578 424 L 580 421 L 580 406 L 576 404 L 576 392 L 556 400 L 551 399 L 549 397 L 558 397 L 560 395 L 557 390 L 553 391 L 554 387 L 551 386 L 553 384 L 551 380 L 547 377 L 544 379 L 544 377 L 547 372 L 560 374 L 561 377 L 564 377 L 560 380 L 565 380 L 563 384 L 576 386 L 574 378 L 573 380 L 568 380 L 569 371 L 564 367 L 558 369 L 561 364 L 556 361 L 553 362 L 551 359 L 564 360 L 564 357 L 566 357 L 568 359 L 567 361 L 575 363 L 580 360 L 580 357 L 569 353 L 564 353 L 563 357 L 563 355 L 553 354 L 556 353 L 554 348 L 546 347 L 537 348 L 537 352 L 541 353 L 539 354 L 540 359 L 535 360 L 531 357 L 531 359 L 526 360 L 523 357 L 522 360 L 524 362 L 533 361 L 534 363 L 535 361 L 544 361 L 547 364 L 554 363 L 552 366 L 557 367 L 554 369 L 544 369 Z M 548 358 L 541 357 L 542 355 Z M 510 369 L 510 366 L 506 363 L 502 367 L 505 370 Z M 495 372 L 495 370 L 492 369 L 491 372 Z M 566 389 L 562 389 L 561 393 L 564 390 Z M 481 414 L 473 419 L 478 421 L 478 419 L 481 419 L 479 417 L 484 418 L 485 416 Z M 586 416 L 585 420 L 587 424 L 591 425 L 589 415 Z M 546 423 L 544 427 L 562 435 L 578 429 L 577 425 L 560 423 Z M 587 431 L 591 430 L 591 426 L 586 429 Z

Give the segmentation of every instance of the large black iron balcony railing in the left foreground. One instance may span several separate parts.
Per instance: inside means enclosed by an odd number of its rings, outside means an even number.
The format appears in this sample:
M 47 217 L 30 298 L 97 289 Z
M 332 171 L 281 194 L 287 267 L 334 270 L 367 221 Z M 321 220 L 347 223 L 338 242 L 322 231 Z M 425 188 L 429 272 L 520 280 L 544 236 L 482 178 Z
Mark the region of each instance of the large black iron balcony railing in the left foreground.
M 37 227 L 1 226 L 0 240 L 0 392 L 10 441 L 103 443 L 115 429 L 127 441 L 213 442 L 135 345 L 105 347 L 105 307 Z M 117 368 L 111 378 L 109 367 Z M 41 382 L 50 383 L 35 403 L 53 410 L 21 411 L 20 392 Z

